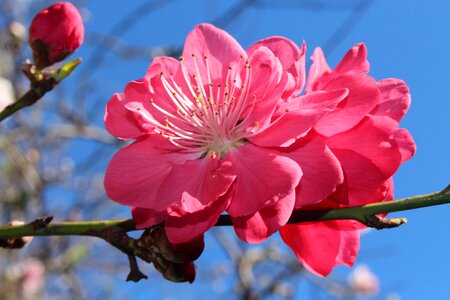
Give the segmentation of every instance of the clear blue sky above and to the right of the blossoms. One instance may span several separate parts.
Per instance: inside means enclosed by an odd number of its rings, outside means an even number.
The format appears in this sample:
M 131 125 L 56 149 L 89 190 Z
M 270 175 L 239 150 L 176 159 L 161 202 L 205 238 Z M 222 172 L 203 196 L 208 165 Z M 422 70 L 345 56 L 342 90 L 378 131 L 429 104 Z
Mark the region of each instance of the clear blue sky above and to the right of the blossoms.
M 142 2 L 86 1 L 90 13 L 86 23 L 88 34 L 109 33 L 121 18 Z M 331 66 L 355 43 L 365 42 L 371 75 L 376 79 L 401 78 L 412 94 L 411 109 L 402 126 L 412 133 L 417 154 L 395 176 L 396 198 L 434 192 L 449 184 L 450 2 L 372 1 L 363 16 L 355 16 L 360 18 L 359 22 L 350 23 L 344 37 L 335 33 L 352 12 L 294 8 L 296 2 L 314 1 L 259 1 L 270 7 L 249 8 L 225 29 L 244 47 L 272 35 L 286 36 L 299 44 L 305 40 L 308 56 L 316 46 L 328 45 L 324 50 Z M 346 7 L 358 3 L 350 0 L 316 2 L 330 3 L 334 8 L 339 7 L 337 3 Z M 143 13 L 133 21 L 122 39 L 132 46 L 182 46 L 186 34 L 196 24 L 218 18 L 234 3 L 173 1 L 155 12 Z M 339 43 L 327 44 L 330 38 Z M 94 47 L 91 40 L 79 54 L 89 61 Z M 128 81 L 142 77 L 150 63 L 143 59 L 123 61 L 111 53 L 103 62 L 96 78 L 103 76 L 104 80 L 100 90 L 91 96 L 103 99 L 98 106 L 99 120 L 109 96 L 122 91 Z M 398 229 L 365 235 L 357 263 L 368 264 L 380 277 L 382 290 L 397 292 L 402 299 L 450 299 L 450 206 L 395 215 L 407 217 L 409 223 Z M 200 268 L 207 267 L 206 264 L 219 254 L 214 246 L 207 246 L 204 255 Z M 336 270 L 336 274 L 347 272 L 345 268 Z M 120 275 L 124 277 L 125 273 Z M 161 283 L 154 277 L 137 284 L 120 281 L 118 284 L 121 284 L 121 295 L 138 299 L 154 293 L 164 295 L 168 291 L 178 291 L 187 297 L 185 299 L 198 298 L 199 291 L 211 292 L 207 287 L 198 289 L 195 284 Z

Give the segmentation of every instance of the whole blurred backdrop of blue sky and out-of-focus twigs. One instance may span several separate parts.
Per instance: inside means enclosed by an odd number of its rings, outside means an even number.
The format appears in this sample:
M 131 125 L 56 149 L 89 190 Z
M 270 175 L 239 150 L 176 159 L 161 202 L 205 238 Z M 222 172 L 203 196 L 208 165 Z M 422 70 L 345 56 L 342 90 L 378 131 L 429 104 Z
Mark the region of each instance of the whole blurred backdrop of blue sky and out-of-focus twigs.
M 0 1 L 0 109 L 28 90 L 32 17 L 56 1 Z M 124 144 L 103 126 L 114 92 L 143 77 L 153 57 L 177 57 L 192 28 L 209 22 L 244 48 L 281 35 L 322 47 L 331 67 L 358 42 L 370 74 L 400 78 L 412 105 L 402 121 L 417 154 L 395 175 L 395 196 L 450 183 L 450 2 L 419 0 L 71 1 L 86 26 L 74 74 L 36 105 L 0 124 L 0 224 L 54 215 L 57 221 L 129 218 L 105 196 L 103 174 Z M 307 66 L 310 62 L 307 62 Z M 327 278 L 308 273 L 278 235 L 240 242 L 211 230 L 194 284 L 125 282 L 125 255 L 102 240 L 40 237 L 20 251 L 0 249 L 1 299 L 450 299 L 450 206 L 392 214 L 409 223 L 365 231 L 356 267 Z

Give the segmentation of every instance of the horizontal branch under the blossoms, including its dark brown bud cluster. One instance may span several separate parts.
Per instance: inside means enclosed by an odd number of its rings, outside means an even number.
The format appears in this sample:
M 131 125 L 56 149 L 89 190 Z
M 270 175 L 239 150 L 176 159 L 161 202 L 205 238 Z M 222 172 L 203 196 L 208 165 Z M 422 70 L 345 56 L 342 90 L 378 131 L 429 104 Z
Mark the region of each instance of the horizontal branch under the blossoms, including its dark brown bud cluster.
M 378 214 L 404 211 L 421 207 L 443 205 L 450 203 L 450 185 L 443 191 L 412 196 L 390 202 L 373 203 L 359 207 L 338 208 L 330 210 L 295 211 L 288 223 L 315 222 L 328 220 L 356 220 L 366 226 L 382 229 L 397 227 L 406 223 L 404 218 L 386 219 Z M 195 266 L 193 261 L 203 251 L 203 240 L 197 247 L 195 257 L 191 253 L 178 252 L 165 237 L 163 225 L 155 225 L 144 231 L 139 239 L 128 236 L 134 231 L 133 220 L 99 220 L 82 222 L 50 223 L 52 217 L 43 217 L 23 225 L 0 226 L 0 246 L 10 245 L 11 241 L 27 236 L 52 235 L 83 235 L 98 237 L 116 247 L 128 256 L 130 274 L 128 280 L 145 279 L 136 262 L 139 257 L 147 263 L 153 263 L 155 268 L 168 280 L 174 282 L 193 282 Z M 215 226 L 232 225 L 230 216 L 222 215 Z M 189 247 L 188 247 L 189 248 Z

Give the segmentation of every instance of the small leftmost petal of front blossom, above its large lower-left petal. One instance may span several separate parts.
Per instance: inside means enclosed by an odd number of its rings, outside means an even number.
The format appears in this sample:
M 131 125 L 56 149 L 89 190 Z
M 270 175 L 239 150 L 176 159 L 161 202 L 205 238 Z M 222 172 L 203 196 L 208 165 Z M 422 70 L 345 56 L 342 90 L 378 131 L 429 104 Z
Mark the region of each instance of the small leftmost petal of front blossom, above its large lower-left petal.
M 135 139 L 143 134 L 134 114 L 124 106 L 124 94 L 114 94 L 106 104 L 105 127 L 109 133 L 120 139 Z

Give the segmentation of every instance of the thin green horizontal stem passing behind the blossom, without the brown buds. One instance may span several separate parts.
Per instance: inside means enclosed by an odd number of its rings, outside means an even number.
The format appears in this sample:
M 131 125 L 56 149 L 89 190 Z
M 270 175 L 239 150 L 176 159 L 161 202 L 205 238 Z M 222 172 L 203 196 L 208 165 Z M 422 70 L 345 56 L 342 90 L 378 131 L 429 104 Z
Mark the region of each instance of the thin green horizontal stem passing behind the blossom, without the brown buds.
M 289 219 L 289 223 L 351 219 L 370 226 L 370 224 L 367 223 L 371 220 L 371 217 L 377 214 L 404 211 L 434 205 L 443 205 L 448 203 L 450 203 L 450 186 L 440 192 L 412 196 L 389 202 L 367 204 L 358 207 L 315 211 L 299 210 L 292 214 Z M 215 226 L 229 225 L 232 225 L 232 222 L 230 216 L 227 215 L 220 216 L 218 222 L 215 224 Z M 0 226 L 0 238 L 51 235 L 87 235 L 104 238 L 105 232 L 108 232 L 111 229 L 118 229 L 121 232 L 137 230 L 133 220 L 61 222 L 50 223 L 42 228 L 35 228 L 32 223 L 29 223 L 16 226 Z

